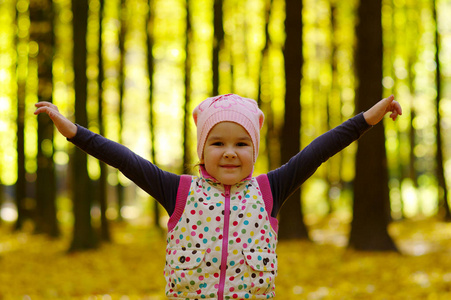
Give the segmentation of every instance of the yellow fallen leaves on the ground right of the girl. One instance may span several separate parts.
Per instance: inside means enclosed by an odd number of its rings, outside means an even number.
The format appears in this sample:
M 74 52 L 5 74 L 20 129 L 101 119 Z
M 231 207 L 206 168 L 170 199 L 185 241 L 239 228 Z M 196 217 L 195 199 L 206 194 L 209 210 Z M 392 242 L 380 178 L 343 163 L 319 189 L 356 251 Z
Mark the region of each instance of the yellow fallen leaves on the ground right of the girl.
M 451 260 L 450 227 L 446 223 L 395 223 L 390 233 L 404 255 L 354 252 L 330 244 L 346 228 L 328 219 L 312 232 L 325 245 L 279 244 L 278 299 L 446 299 Z M 341 233 L 340 233 L 341 232 Z M 343 244 L 343 243 L 341 243 Z M 430 298 L 428 298 L 430 297 Z

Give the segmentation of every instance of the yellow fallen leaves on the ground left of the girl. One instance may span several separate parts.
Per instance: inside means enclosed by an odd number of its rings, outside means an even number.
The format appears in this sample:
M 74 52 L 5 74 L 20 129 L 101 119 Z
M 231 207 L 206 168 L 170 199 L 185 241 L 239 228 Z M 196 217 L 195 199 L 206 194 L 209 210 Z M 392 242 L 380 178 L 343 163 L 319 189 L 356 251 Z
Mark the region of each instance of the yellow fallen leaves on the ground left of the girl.
M 25 295 L 32 299 L 162 296 L 164 241 L 155 236 L 156 232 L 142 229 L 126 232 L 118 228 L 116 232 L 119 231 L 122 233 L 114 237 L 115 245 L 74 254 L 65 252 L 68 236 L 60 241 L 23 233 L 6 239 L 3 236 L 0 296 L 4 299 Z

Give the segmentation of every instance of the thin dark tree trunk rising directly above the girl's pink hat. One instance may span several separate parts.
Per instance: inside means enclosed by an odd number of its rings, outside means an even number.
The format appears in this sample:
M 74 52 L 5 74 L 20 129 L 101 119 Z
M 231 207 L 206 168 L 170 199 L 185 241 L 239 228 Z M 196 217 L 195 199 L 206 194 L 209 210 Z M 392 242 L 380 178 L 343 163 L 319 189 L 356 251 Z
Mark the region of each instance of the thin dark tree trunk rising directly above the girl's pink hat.
M 219 95 L 219 56 L 224 44 L 224 25 L 222 16 L 223 0 L 214 0 L 214 40 L 213 40 L 213 95 Z

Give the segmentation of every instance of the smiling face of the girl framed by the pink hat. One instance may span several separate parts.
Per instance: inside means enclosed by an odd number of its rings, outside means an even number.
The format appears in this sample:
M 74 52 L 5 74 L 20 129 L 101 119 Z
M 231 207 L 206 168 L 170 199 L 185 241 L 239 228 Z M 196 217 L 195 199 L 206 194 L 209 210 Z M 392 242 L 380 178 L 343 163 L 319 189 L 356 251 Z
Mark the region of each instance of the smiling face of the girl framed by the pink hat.
M 221 122 L 210 131 L 201 163 L 208 174 L 234 185 L 252 172 L 254 145 L 247 131 L 233 122 Z

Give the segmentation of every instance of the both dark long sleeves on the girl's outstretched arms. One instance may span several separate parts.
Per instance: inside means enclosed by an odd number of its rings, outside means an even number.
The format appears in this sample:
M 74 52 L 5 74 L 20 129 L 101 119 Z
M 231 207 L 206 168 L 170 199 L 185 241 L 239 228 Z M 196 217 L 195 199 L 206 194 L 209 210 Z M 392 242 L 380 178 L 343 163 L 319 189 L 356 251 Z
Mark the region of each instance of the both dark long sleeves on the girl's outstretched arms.
M 363 113 L 320 135 L 280 168 L 270 171 L 268 180 L 273 196 L 272 217 L 276 217 L 286 199 L 330 157 L 357 140 L 371 128 Z M 127 147 L 77 125 L 77 134 L 69 139 L 77 147 L 108 165 L 154 197 L 172 215 L 180 175 L 164 171 Z

